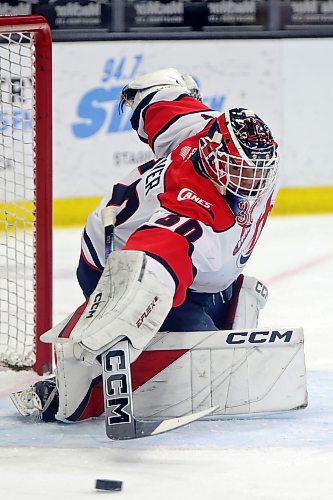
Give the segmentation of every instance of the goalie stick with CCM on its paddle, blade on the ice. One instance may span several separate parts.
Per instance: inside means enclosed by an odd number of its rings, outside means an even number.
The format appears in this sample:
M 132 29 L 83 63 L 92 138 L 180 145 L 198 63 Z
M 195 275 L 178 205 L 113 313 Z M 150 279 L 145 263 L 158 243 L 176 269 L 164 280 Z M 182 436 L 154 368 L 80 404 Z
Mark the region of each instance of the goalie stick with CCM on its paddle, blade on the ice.
M 107 260 L 114 246 L 115 213 L 113 207 L 108 206 L 103 209 L 102 220 L 105 234 L 105 259 Z M 134 416 L 128 340 L 117 342 L 101 357 L 105 428 L 110 439 L 134 439 L 161 434 L 210 415 L 218 409 L 218 406 L 214 406 L 193 414 L 177 418 L 154 419 L 154 421 L 137 419 Z

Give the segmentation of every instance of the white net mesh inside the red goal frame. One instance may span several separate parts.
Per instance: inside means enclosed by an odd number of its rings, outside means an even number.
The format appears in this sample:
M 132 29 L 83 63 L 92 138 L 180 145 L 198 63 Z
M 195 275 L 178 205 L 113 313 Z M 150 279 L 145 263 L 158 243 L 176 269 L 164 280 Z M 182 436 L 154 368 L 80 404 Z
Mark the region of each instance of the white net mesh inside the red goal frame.
M 0 364 L 35 361 L 34 35 L 0 33 Z

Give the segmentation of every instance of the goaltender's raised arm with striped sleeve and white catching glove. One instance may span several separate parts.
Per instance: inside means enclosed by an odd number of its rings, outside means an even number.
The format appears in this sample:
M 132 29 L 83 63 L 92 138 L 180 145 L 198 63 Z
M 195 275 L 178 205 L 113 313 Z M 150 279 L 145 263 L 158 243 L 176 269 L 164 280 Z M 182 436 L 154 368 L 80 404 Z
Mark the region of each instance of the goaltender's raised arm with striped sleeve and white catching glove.
M 124 87 L 121 101 L 132 108 L 133 129 L 157 157 L 170 154 L 218 114 L 201 102 L 194 79 L 174 68 L 133 80 Z

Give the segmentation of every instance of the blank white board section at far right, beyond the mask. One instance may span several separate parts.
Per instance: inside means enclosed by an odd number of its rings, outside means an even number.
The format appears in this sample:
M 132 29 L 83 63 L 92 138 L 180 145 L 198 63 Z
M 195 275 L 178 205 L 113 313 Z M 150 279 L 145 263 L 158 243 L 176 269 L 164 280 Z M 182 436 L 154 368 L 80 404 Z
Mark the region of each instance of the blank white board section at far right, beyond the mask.
M 281 44 L 284 183 L 333 185 L 333 39 Z

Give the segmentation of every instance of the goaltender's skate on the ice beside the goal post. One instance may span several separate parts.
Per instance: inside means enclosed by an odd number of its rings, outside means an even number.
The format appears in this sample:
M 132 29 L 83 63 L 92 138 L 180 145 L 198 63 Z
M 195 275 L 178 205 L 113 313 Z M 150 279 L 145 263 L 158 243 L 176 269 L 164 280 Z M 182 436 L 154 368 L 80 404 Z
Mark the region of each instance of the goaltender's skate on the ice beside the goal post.
M 59 406 L 55 376 L 40 380 L 29 389 L 14 392 L 10 398 L 24 417 L 35 417 L 44 422 L 55 421 Z

